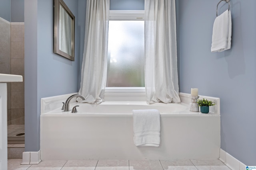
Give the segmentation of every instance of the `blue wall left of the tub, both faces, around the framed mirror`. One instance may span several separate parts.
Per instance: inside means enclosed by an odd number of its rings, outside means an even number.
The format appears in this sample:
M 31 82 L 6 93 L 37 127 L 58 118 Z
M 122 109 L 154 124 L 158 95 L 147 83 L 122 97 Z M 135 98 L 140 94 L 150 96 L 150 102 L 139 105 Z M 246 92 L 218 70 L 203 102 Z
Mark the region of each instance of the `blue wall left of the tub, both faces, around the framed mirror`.
M 25 151 L 40 149 L 40 99 L 78 92 L 78 0 L 65 0 L 76 18 L 75 61 L 53 53 L 53 0 L 25 0 Z

